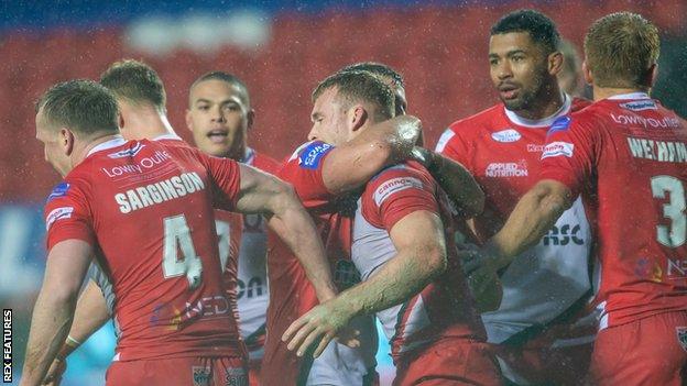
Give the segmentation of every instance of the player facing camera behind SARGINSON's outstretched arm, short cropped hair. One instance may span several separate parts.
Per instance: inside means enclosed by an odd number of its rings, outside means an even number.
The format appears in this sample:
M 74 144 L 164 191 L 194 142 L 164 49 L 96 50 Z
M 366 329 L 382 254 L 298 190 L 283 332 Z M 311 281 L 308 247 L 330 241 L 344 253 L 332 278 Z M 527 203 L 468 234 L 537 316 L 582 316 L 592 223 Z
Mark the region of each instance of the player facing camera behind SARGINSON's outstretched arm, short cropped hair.
M 193 133 L 196 146 L 207 154 L 231 158 L 274 174 L 279 168 L 277 162 L 248 146 L 248 133 L 254 118 L 248 87 L 235 75 L 211 71 L 200 76 L 190 87 L 186 125 Z M 249 351 L 250 384 L 259 385 L 265 312 L 270 299 L 266 274 L 268 228 L 260 214 L 217 210 L 215 221 L 220 239 L 222 267 L 226 273 L 238 272 L 237 290 L 233 291 L 230 283 L 227 286 L 237 295 L 239 330 Z

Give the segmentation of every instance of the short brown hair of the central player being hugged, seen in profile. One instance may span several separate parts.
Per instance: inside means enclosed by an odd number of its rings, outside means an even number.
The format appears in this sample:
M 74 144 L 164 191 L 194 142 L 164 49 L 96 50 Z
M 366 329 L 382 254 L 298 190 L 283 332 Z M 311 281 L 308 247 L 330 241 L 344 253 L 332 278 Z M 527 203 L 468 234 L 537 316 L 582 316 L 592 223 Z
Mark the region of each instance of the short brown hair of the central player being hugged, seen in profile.
M 313 91 L 313 101 L 326 90 L 336 87 L 337 96 L 345 108 L 352 103 L 368 102 L 377 107 L 377 121 L 384 121 L 394 115 L 394 93 L 391 87 L 378 76 L 360 70 L 339 71 L 319 82 Z

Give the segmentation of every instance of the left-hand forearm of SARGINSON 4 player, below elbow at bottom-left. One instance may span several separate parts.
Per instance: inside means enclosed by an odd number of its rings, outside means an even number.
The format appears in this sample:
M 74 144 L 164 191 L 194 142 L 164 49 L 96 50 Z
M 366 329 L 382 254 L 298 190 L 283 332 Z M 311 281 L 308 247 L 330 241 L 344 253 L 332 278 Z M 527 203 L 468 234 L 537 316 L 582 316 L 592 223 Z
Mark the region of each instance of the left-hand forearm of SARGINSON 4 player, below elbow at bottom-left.
M 43 288 L 33 309 L 21 385 L 40 385 L 67 338 L 76 293 Z

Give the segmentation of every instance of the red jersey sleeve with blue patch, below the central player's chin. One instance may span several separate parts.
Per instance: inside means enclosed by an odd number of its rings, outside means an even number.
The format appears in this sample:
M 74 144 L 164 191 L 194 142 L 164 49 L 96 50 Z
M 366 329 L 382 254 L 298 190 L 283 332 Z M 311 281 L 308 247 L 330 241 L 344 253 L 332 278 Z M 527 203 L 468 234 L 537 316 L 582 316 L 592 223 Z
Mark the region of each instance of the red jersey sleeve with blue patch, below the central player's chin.
M 298 147 L 279 170 L 277 176 L 293 185 L 305 208 L 314 208 L 334 198 L 323 179 L 323 165 L 332 145 L 320 141 Z

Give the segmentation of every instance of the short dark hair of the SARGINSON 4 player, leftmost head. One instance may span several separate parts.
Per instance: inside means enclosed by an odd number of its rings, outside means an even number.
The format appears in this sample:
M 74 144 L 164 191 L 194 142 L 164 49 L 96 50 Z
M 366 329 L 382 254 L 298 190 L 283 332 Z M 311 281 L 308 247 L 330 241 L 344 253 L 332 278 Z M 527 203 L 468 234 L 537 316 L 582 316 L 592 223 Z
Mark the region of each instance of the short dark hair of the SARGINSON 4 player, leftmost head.
M 115 95 L 92 80 L 54 85 L 37 100 L 39 110 L 53 126 L 69 128 L 85 136 L 119 132 Z

